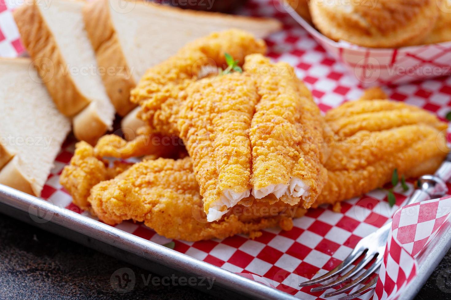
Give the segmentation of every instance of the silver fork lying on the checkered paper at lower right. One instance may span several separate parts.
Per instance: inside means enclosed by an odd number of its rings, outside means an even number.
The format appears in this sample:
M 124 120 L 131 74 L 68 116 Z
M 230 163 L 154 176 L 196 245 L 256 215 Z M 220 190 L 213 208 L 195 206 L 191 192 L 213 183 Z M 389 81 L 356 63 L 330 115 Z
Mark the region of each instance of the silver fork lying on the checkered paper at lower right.
M 446 161 L 442 163 L 440 168 L 435 172 L 435 175 L 424 175 L 418 179 L 418 188 L 414 191 L 409 200 L 406 201 L 405 205 L 444 196 L 448 192 L 448 188 L 446 187 L 445 182 L 449 179 L 451 179 L 451 153 L 448 154 Z M 368 266 L 368 269 L 366 269 L 350 283 L 336 291 L 331 291 L 327 294 L 324 294 L 324 297 L 339 295 L 345 291 L 349 291 L 360 283 L 365 282 L 374 272 L 377 271 L 377 269 L 380 268 L 382 264 L 382 255 L 385 251 L 390 228 L 391 222 L 385 224 L 375 232 L 369 234 L 367 237 L 362 238 L 357 243 L 351 254 L 346 257 L 341 264 L 337 265 L 330 272 L 318 278 L 302 282 L 301 284 L 299 284 L 299 287 L 311 286 L 313 284 L 333 279 L 327 284 L 324 284 L 320 287 L 313 287 L 310 290 L 312 292 L 324 291 L 348 281 L 350 278 L 352 278 L 354 275 L 357 275 L 362 269 L 364 269 L 365 266 Z M 348 267 L 350 267 L 350 265 L 360 256 L 363 256 L 362 260 L 360 260 L 358 264 L 349 269 Z M 372 261 L 373 263 L 370 264 Z M 346 273 L 340 276 L 340 274 L 345 270 Z M 371 279 L 367 284 L 365 284 L 364 287 L 360 288 L 358 291 L 354 291 L 348 296 L 342 297 L 340 299 L 348 300 L 357 298 L 367 293 L 368 291 L 373 290 L 373 288 L 376 287 L 376 282 L 377 276 Z

